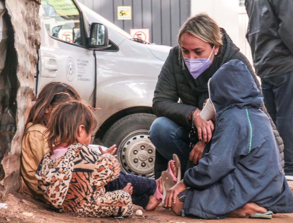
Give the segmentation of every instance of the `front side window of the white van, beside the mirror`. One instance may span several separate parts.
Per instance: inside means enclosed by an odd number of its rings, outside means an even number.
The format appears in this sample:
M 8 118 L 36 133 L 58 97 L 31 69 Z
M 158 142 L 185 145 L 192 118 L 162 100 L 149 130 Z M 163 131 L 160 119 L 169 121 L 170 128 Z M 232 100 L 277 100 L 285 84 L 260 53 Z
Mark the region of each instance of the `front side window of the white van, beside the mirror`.
M 51 37 L 83 45 L 80 29 L 80 13 L 71 0 L 41 0 L 44 15 L 42 20 Z

